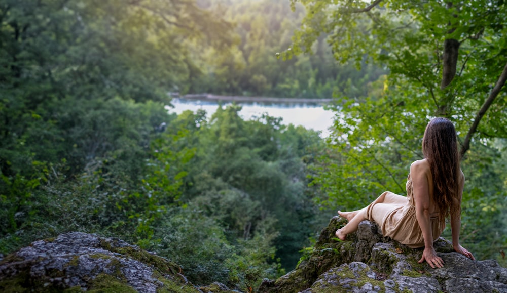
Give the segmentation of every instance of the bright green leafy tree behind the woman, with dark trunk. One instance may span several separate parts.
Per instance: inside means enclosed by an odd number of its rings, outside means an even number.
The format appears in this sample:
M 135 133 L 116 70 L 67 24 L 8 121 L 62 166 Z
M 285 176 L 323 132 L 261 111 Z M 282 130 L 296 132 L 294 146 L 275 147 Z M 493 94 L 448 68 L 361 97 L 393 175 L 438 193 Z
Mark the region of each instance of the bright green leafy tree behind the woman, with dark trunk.
M 329 191 L 324 200 L 354 208 L 384 190 L 404 193 L 402 178 L 409 163 L 422 158 L 420 142 L 432 116 L 455 123 L 465 177 L 475 178 L 477 155 L 484 148 L 494 154 L 494 139 L 507 137 L 503 1 L 293 0 L 293 7 L 297 2 L 308 13 L 284 58 L 311 52 L 318 37 L 329 34 L 338 61 L 388 69 L 367 95 L 337 100 L 331 150 L 314 181 Z M 470 165 L 467 156 L 475 163 Z M 499 160 L 479 157 L 495 165 Z M 503 184 L 491 192 L 480 186 L 484 182 L 467 181 L 465 213 L 478 210 L 483 197 L 505 194 L 504 178 L 489 174 L 488 180 Z M 505 211 L 505 202 L 497 203 L 495 210 Z M 492 227 L 498 215 L 484 215 L 484 220 Z

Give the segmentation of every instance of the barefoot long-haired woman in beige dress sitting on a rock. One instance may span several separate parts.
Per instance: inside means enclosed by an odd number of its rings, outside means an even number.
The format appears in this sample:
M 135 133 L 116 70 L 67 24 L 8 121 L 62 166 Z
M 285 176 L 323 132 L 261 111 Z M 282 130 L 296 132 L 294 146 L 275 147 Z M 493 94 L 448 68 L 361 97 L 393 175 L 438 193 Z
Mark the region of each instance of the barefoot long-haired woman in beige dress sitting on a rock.
M 392 192 L 382 193 L 365 208 L 338 214 L 348 220 L 336 231 L 345 240 L 363 220 L 375 221 L 382 234 L 412 248 L 424 246 L 419 263 L 444 266 L 433 247 L 451 219 L 452 245 L 456 252 L 475 260 L 472 253 L 459 245 L 461 197 L 464 175 L 459 166 L 456 130 L 446 118 L 429 121 L 422 139 L 424 159 L 413 162 L 407 179 L 407 197 Z

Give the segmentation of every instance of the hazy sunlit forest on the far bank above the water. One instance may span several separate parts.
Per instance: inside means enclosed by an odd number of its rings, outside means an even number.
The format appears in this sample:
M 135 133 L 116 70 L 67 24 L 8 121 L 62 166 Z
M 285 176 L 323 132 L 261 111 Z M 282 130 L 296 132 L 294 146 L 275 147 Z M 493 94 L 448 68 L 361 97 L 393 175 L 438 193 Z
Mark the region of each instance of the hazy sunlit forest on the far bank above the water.
M 241 96 L 332 98 L 333 93 L 364 95 L 368 83 L 384 70 L 363 63 L 338 65 L 332 49 L 319 37 L 312 55 L 278 60 L 276 52 L 291 46 L 293 31 L 304 17 L 298 6 L 293 13 L 286 1 L 202 0 L 202 5 L 223 11 L 235 24 L 236 40 L 228 50 L 194 47 L 202 74 L 192 77 L 190 91 Z

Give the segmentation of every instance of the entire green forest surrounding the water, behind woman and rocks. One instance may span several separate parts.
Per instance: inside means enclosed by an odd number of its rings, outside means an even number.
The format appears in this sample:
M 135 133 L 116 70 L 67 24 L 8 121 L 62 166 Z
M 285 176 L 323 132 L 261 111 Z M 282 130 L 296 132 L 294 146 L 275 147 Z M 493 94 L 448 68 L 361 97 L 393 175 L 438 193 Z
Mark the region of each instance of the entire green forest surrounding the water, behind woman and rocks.
M 507 266 L 503 1 L 0 0 L 0 253 L 118 237 L 194 284 L 294 269 L 456 126 L 461 244 Z M 168 93 L 333 98 L 331 134 Z M 450 229 L 444 232 L 450 238 Z

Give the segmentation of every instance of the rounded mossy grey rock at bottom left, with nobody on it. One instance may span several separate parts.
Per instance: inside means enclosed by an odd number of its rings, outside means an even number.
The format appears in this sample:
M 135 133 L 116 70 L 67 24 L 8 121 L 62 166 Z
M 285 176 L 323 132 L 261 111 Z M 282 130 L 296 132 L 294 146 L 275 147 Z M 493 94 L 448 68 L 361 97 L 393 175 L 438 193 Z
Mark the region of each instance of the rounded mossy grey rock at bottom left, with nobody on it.
M 1 292 L 231 292 L 194 286 L 178 265 L 118 239 L 72 232 L 0 261 Z

